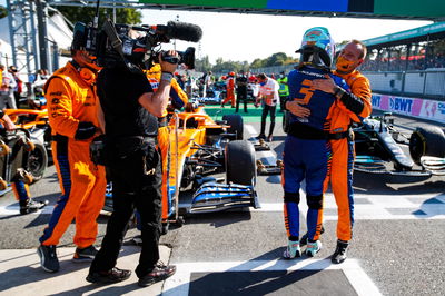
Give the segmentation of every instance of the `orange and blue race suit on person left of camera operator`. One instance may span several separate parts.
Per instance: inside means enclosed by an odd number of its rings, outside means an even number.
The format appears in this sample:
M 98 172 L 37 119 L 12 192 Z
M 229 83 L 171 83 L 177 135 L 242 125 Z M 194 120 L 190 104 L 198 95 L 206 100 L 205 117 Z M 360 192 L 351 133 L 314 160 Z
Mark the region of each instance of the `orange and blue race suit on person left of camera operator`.
M 75 61 L 57 70 L 44 86 L 49 124 L 53 141 L 61 196 L 48 227 L 40 237 L 42 245 L 58 245 L 60 237 L 76 219 L 73 243 L 85 248 L 96 241 L 97 217 L 105 201 L 105 167 L 90 160 L 90 142 L 99 127 L 93 86 L 80 76 Z

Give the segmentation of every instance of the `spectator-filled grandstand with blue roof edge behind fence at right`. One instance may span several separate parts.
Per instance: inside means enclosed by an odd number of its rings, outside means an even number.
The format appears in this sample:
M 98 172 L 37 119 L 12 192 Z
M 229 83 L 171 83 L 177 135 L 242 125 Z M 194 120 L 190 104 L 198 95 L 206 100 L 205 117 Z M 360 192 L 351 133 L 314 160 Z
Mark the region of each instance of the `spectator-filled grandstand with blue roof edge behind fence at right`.
M 445 22 L 365 40 L 373 92 L 445 100 Z

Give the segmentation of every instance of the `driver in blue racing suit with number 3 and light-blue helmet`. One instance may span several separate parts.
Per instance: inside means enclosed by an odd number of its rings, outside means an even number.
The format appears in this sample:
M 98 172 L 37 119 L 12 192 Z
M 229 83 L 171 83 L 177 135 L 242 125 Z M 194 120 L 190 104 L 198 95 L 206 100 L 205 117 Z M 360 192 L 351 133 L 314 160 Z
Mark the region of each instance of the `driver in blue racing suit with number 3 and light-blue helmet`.
M 323 193 L 330 166 L 329 139 L 345 138 L 347 131 L 330 132 L 332 120 L 342 112 L 339 99 L 313 88 L 313 81 L 329 76 L 336 85 L 348 89 L 346 82 L 330 73 L 334 41 L 326 28 L 315 27 L 303 37 L 300 65 L 288 76 L 289 101 L 297 101 L 310 109 L 306 118 L 290 114 L 289 131 L 284 149 L 284 215 L 288 246 L 284 257 L 301 256 L 299 245 L 300 182 L 306 180 L 308 243 L 306 254 L 315 256 L 322 249 L 319 235 L 323 221 Z

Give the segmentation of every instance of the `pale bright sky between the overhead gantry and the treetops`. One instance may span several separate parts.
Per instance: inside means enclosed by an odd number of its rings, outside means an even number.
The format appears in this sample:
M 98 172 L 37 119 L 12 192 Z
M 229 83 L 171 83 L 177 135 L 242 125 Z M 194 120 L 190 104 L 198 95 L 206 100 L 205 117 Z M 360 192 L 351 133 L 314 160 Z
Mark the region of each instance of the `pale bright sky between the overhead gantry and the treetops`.
M 353 18 L 313 18 L 263 16 L 217 12 L 187 12 L 174 10 L 144 10 L 142 22 L 166 24 L 179 19 L 201 27 L 202 39 L 199 43 L 178 41 L 177 50 L 188 46 L 197 49 L 197 57 L 208 56 L 215 63 L 217 58 L 251 62 L 256 58 L 265 59 L 276 52 L 285 52 L 297 58 L 303 33 L 312 27 L 326 27 L 336 42 L 343 40 L 366 40 L 388 33 L 408 30 L 431 21 L 378 20 Z M 162 49 L 171 46 L 164 45 Z

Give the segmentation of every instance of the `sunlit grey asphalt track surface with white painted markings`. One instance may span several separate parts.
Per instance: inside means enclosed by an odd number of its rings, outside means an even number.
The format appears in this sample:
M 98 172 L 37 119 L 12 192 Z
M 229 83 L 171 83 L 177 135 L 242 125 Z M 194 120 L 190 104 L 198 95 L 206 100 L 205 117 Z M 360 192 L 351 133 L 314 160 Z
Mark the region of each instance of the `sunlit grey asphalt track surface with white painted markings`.
M 233 111 L 228 107 L 224 109 L 224 114 Z M 240 112 L 245 117 L 245 138 L 257 136 L 259 111 L 249 108 L 249 116 Z M 208 108 L 208 112 L 214 115 L 216 109 Z M 396 125 L 406 134 L 419 124 L 409 118 L 396 118 Z M 444 128 L 444 125 L 438 126 Z M 277 118 L 271 150 L 257 152 L 257 158 L 269 162 L 280 158 L 284 139 Z M 310 259 L 303 256 L 283 260 L 286 231 L 279 177 L 259 176 L 260 209 L 188 215 L 182 227 L 170 227 L 161 237 L 161 244 L 171 248 L 170 264 L 178 265 L 177 274 L 164 283 L 164 294 L 445 295 L 445 178 L 400 181 L 355 175 L 354 239 L 348 259 L 342 265 L 332 265 L 328 257 L 336 243 L 333 195 L 327 193 L 325 198 L 326 233 L 322 237 L 320 253 Z M 53 166 L 48 168 L 42 180 L 31 186 L 31 194 L 49 199 L 51 205 L 56 203 L 59 185 Z M 187 200 L 181 204 L 187 206 Z M 300 205 L 304 231 L 304 198 Z M 48 206 L 38 214 L 20 216 L 11 194 L 0 197 L 0 249 L 36 249 L 50 213 Z M 106 223 L 107 216 L 100 216 L 98 245 Z M 60 247 L 73 246 L 73 231 L 72 224 Z M 126 239 L 136 234 L 131 228 Z M 2 258 L 0 266 L 6 260 Z M 9 288 L 11 284 L 0 280 L 0 294 L 8 295 Z M 51 289 L 44 294 L 51 294 Z M 70 293 L 67 290 L 67 294 Z M 120 294 L 121 289 L 107 293 Z

